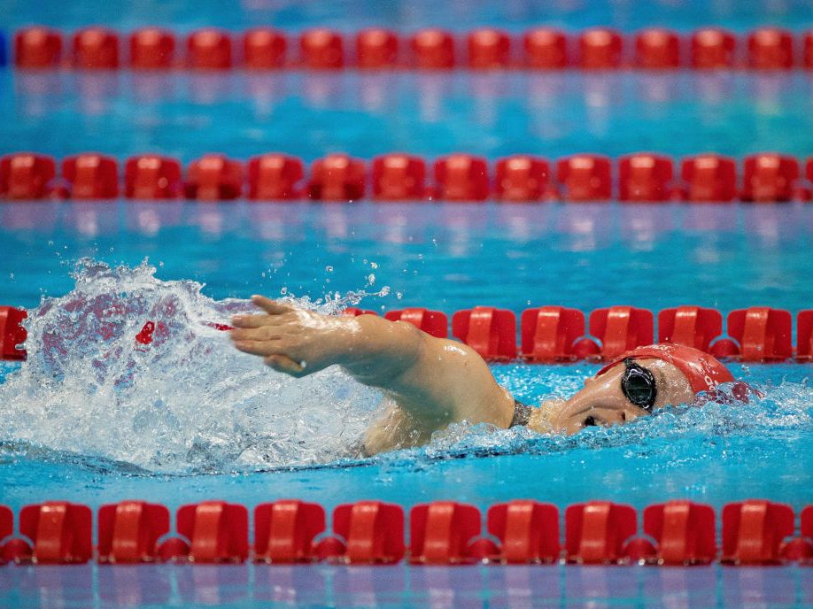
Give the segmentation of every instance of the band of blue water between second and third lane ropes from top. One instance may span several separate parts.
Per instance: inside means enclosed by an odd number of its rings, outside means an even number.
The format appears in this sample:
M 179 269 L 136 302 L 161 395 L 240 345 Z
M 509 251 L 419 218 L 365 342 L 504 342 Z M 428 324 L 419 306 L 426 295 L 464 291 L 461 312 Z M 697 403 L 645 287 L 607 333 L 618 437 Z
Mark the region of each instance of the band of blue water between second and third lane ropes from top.
M 150 258 L 217 299 L 386 286 L 376 310 L 813 304 L 809 204 L 7 203 L 0 239 L 0 293 L 27 307 L 82 257 Z

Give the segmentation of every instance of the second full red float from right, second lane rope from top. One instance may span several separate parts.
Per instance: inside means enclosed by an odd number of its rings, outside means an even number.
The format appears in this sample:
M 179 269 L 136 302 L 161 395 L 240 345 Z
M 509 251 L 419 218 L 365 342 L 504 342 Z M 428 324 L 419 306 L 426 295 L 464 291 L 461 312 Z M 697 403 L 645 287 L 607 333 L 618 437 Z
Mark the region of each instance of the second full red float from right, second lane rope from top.
M 683 160 L 682 198 L 696 203 L 727 203 L 737 198 L 737 164 L 733 158 L 701 154 Z

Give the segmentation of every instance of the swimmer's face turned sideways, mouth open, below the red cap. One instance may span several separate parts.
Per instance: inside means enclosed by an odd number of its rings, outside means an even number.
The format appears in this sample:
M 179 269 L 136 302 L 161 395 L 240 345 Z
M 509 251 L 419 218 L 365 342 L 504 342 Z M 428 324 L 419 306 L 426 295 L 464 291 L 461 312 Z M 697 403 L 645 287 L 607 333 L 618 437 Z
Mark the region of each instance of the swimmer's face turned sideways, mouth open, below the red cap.
M 639 391 L 628 382 L 625 394 L 622 388 L 624 374 L 639 374 L 642 379 L 638 384 Z M 648 371 L 650 376 L 641 369 Z M 554 429 L 565 434 L 575 434 L 585 427 L 601 425 L 609 427 L 621 425 L 647 416 L 647 386 L 654 382 L 654 400 L 650 400 L 649 412 L 665 405 L 689 404 L 693 402 L 694 392 L 685 375 L 662 359 L 642 358 L 630 360 L 613 366 L 606 373 L 585 381 L 585 388 L 562 403 L 550 416 Z M 637 404 L 633 403 L 634 400 Z M 646 404 L 647 406 L 649 404 Z

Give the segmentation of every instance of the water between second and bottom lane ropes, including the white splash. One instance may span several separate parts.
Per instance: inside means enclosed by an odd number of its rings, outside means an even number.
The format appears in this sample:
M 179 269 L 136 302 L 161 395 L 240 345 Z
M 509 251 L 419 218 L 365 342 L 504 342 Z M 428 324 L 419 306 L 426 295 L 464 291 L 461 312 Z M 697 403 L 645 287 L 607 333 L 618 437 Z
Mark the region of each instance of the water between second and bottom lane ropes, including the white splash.
M 375 391 L 337 369 L 302 381 L 275 374 L 205 325 L 244 310 L 234 299 L 252 292 L 323 311 L 629 304 L 656 312 L 687 303 L 796 311 L 811 300 L 811 206 L 43 205 L 56 211 L 50 227 L 27 227 L 42 217 L 38 207 L 3 208 L 4 220 L 19 223 L 2 229 L 12 244 L 0 262 L 10 297 L 31 307 L 41 290 L 48 295 L 26 366 L 0 386 L 9 413 L 0 429 L 12 441 L 0 498 L 13 507 L 68 490 L 91 504 L 166 497 L 171 505 L 215 495 L 328 506 L 456 497 L 482 508 L 512 497 L 639 506 L 770 497 L 801 508 L 811 498 L 807 365 L 733 365 L 766 393 L 754 404 L 676 409 L 571 438 L 458 426 L 426 448 L 360 461 L 352 444 L 379 405 Z M 632 227 L 620 226 L 625 218 Z M 771 224 L 778 234 L 752 231 Z M 96 228 L 83 235 L 81 226 Z M 146 254 L 159 266 L 143 263 Z M 96 260 L 75 263 L 83 257 Z M 115 308 L 122 299 L 126 311 Z M 140 351 L 133 338 L 146 320 L 170 329 L 164 343 Z M 492 369 L 516 397 L 538 403 L 569 395 L 598 366 Z

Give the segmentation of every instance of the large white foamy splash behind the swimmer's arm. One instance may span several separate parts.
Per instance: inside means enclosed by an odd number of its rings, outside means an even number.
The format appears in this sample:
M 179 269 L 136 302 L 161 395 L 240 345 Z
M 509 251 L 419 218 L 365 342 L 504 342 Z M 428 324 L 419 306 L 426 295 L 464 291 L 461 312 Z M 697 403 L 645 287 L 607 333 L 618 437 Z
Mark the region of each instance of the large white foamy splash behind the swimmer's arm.
M 262 366 L 217 328 L 251 304 L 155 270 L 83 259 L 69 294 L 29 312 L 28 360 L 0 384 L 0 442 L 170 474 L 352 455 L 378 392 L 337 366 L 298 381 Z M 329 314 L 364 296 L 288 299 Z

